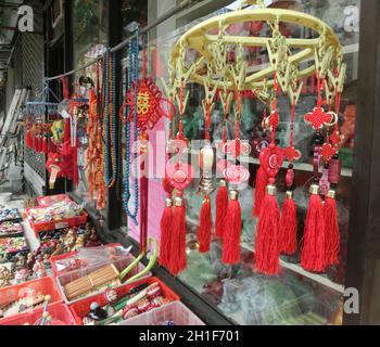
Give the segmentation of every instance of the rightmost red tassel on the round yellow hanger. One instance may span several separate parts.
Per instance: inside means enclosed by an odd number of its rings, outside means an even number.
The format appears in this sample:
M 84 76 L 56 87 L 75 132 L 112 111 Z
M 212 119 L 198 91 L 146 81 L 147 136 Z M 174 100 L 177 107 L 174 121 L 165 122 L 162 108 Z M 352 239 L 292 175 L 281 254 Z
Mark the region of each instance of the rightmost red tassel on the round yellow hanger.
M 324 206 L 326 228 L 326 259 L 327 267 L 339 264 L 340 232 L 338 223 L 338 208 L 335 192 L 329 191 Z

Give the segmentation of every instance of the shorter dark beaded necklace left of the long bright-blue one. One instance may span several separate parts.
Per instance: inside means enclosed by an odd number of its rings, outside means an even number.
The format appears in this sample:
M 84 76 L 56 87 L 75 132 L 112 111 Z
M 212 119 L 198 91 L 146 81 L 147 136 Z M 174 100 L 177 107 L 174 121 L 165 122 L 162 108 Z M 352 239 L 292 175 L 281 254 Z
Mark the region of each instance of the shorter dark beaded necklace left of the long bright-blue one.
M 117 137 L 116 137 L 116 83 L 114 77 L 116 75 L 116 60 L 114 54 L 110 56 L 110 51 L 105 52 L 105 157 L 104 172 L 105 183 L 107 188 L 115 185 L 117 178 Z M 110 163 L 111 158 L 111 163 Z M 110 172 L 112 166 L 112 176 Z

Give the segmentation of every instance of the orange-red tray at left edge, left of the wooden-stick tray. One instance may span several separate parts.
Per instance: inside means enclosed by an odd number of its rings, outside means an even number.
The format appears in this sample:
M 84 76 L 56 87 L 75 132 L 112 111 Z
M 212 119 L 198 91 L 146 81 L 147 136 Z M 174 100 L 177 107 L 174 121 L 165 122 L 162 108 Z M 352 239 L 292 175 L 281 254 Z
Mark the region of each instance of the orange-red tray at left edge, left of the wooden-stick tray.
M 23 284 L 12 285 L 0 290 L 0 309 L 4 310 L 7 307 L 9 307 L 10 304 L 13 304 L 22 298 L 31 297 L 31 295 L 50 295 L 50 304 L 62 304 L 62 297 L 61 293 L 56 286 L 56 283 L 54 279 L 52 278 L 43 278 L 38 279 L 29 282 L 25 282 Z M 37 308 L 26 308 L 23 313 L 30 313 Z M 3 319 L 0 319 L 0 322 L 2 320 L 8 319 L 9 317 L 13 317 L 18 314 L 18 312 L 15 312 L 14 314 L 10 314 L 8 317 L 4 317 Z

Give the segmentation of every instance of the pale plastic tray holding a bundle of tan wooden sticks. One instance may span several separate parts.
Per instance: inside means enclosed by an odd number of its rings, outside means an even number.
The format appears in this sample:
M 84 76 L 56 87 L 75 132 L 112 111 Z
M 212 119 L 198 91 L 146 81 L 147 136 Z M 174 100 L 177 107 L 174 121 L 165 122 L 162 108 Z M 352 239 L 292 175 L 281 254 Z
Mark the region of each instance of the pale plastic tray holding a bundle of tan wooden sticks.
M 114 261 L 114 262 L 111 262 L 113 264 L 116 269 L 122 272 L 124 269 L 126 269 L 130 264 L 132 264 L 134 261 L 136 260 L 136 258 L 131 255 L 129 255 L 127 258 L 124 258 L 124 259 L 121 259 L 121 260 L 117 260 L 117 261 Z M 80 270 L 77 270 L 77 271 L 73 271 L 73 272 L 68 272 L 68 273 L 65 273 L 65 274 L 62 274 L 62 275 L 59 275 L 56 277 L 56 284 L 58 284 L 58 287 L 61 292 L 61 295 L 64 299 L 64 301 L 67 304 L 67 305 L 72 305 L 74 303 L 78 303 L 85 298 L 94 298 L 97 297 L 97 295 L 99 295 L 100 293 L 104 292 L 104 288 L 100 288 L 96 292 L 91 292 L 91 293 L 88 293 L 87 295 L 83 295 L 81 297 L 78 297 L 76 299 L 72 299 L 69 300 L 67 297 L 66 297 L 66 294 L 65 294 L 65 290 L 64 290 L 64 286 L 71 282 L 74 282 L 80 278 L 84 278 L 86 275 L 88 275 L 89 273 L 93 272 L 93 271 L 97 271 L 98 269 L 101 269 L 102 267 L 106 266 L 105 265 L 100 265 L 100 266 L 96 266 L 96 267 L 89 267 L 87 269 L 80 269 Z M 128 279 L 132 278 L 134 275 L 140 273 L 141 271 L 144 270 L 144 266 L 139 262 L 139 265 L 137 267 L 135 267 L 130 273 L 127 275 L 126 279 L 124 279 L 124 281 L 128 281 Z M 143 275 L 141 279 L 139 280 L 143 280 L 143 279 L 148 279 L 148 278 L 151 278 L 152 277 L 152 273 L 151 272 L 148 272 L 145 275 Z M 137 280 L 137 281 L 139 281 Z M 119 287 L 123 287 L 125 284 L 122 284 L 122 285 L 115 285 L 113 288 L 117 290 Z M 106 288 L 106 287 L 105 287 Z

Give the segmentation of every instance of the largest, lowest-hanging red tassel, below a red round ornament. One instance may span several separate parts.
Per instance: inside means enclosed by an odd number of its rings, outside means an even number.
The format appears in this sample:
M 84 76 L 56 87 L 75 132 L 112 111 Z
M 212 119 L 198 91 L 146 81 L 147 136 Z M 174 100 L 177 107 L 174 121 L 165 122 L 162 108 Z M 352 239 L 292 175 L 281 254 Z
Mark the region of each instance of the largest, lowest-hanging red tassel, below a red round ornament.
M 280 208 L 276 200 L 276 187 L 268 185 L 256 230 L 256 270 L 267 275 L 277 274 L 280 260 Z

